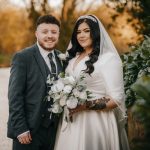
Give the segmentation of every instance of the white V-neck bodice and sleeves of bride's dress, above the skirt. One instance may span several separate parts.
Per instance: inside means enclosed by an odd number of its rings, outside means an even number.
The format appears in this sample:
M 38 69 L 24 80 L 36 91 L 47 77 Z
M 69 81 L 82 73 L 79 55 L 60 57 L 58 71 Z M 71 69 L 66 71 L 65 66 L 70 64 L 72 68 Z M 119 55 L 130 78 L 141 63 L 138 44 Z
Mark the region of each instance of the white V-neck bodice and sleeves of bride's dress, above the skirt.
M 89 60 L 86 56 L 76 66 L 74 63 L 78 55 L 70 60 L 66 72 L 75 78 L 79 78 L 86 69 L 85 62 Z M 117 100 L 122 100 L 124 96 L 123 78 L 121 64 L 111 53 L 105 54 L 94 63 L 94 71 L 91 75 L 85 74 L 87 89 L 92 92 L 93 99 L 110 96 Z

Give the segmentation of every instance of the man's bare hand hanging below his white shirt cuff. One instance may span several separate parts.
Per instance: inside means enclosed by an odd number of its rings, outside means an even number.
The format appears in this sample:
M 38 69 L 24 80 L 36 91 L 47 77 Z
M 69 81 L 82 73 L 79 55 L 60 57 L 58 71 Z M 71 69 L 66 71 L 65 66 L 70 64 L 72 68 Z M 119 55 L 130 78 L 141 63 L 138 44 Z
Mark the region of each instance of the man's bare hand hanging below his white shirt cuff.
M 18 140 L 21 144 L 30 144 L 32 141 L 30 132 L 25 132 L 18 136 Z

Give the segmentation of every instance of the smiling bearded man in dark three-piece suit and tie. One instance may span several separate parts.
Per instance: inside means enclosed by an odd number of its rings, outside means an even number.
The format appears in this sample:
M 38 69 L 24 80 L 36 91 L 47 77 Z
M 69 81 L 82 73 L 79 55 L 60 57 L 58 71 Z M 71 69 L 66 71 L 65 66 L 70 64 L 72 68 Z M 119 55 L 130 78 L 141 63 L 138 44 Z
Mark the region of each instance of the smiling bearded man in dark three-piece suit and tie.
M 53 150 L 59 122 L 50 114 L 52 100 L 45 99 L 47 76 L 63 70 L 59 51 L 59 21 L 52 15 L 39 17 L 36 23 L 36 44 L 17 52 L 12 60 L 9 81 L 8 137 L 13 150 Z M 51 117 L 50 117 L 51 116 Z

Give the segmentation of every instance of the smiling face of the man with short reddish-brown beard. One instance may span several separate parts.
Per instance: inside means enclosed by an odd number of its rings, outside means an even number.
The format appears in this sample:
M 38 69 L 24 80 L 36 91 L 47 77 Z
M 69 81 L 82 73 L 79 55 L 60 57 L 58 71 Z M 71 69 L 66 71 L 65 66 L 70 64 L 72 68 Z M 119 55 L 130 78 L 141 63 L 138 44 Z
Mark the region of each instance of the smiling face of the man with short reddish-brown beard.
M 37 27 L 35 35 L 40 46 L 51 51 L 58 43 L 59 27 L 56 24 L 42 23 Z

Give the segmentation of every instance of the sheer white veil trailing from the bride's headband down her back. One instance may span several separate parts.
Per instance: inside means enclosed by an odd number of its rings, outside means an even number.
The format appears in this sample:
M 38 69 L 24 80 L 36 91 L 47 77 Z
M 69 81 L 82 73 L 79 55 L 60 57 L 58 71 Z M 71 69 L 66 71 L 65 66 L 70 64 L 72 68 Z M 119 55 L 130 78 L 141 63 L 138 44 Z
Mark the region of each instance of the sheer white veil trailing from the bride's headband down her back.
M 122 67 L 122 61 L 121 58 L 112 42 L 112 40 L 110 39 L 108 33 L 106 32 L 104 26 L 102 25 L 102 23 L 100 22 L 100 20 L 94 16 L 94 15 L 84 15 L 84 16 L 80 16 L 77 21 L 79 21 L 80 19 L 90 19 L 94 22 L 97 22 L 99 25 L 99 31 L 100 32 L 100 54 L 99 54 L 99 58 L 103 57 L 106 53 L 113 53 L 113 55 L 115 56 L 115 60 L 117 62 L 117 64 L 115 63 L 115 65 L 118 65 L 119 67 Z M 67 50 L 69 50 L 72 47 L 72 44 L 70 42 Z M 118 102 L 117 99 L 113 99 L 115 101 L 115 103 L 118 105 L 118 107 L 114 110 L 115 115 L 117 117 L 117 121 L 118 121 L 118 129 L 119 129 L 119 137 L 120 137 L 120 147 L 121 150 L 129 150 L 129 145 L 128 145 L 128 140 L 126 137 L 126 133 L 124 130 L 124 126 L 126 123 L 126 107 L 125 107 L 125 96 L 124 96 L 124 85 L 123 85 L 123 69 L 120 70 L 119 73 L 120 78 L 122 78 L 122 80 L 120 81 L 121 87 L 123 87 L 123 93 L 120 96 L 121 100 Z

